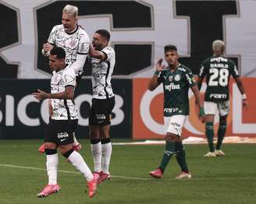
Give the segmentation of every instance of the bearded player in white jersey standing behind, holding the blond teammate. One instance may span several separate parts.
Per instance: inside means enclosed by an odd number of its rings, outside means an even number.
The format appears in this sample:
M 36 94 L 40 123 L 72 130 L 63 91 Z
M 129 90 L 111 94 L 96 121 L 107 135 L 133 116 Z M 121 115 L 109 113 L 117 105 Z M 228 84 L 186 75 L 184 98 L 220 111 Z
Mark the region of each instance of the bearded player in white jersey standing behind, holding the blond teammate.
M 99 182 L 110 178 L 108 167 L 112 154 L 109 129 L 115 95 L 112 91 L 111 76 L 116 63 L 116 54 L 112 47 L 108 47 L 109 39 L 110 34 L 107 30 L 97 30 L 89 51 L 93 88 L 89 129 L 94 173 L 99 174 Z

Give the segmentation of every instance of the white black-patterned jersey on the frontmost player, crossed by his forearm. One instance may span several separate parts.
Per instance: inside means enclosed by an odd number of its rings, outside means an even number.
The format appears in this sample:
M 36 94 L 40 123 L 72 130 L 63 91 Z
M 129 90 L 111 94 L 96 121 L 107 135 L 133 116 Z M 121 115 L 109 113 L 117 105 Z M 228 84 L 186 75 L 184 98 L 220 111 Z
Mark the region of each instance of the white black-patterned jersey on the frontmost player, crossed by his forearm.
M 69 65 L 59 72 L 52 72 L 51 93 L 61 93 L 66 86 L 76 85 L 76 74 Z M 52 119 L 54 120 L 75 120 L 78 119 L 78 112 L 73 100 L 51 99 Z

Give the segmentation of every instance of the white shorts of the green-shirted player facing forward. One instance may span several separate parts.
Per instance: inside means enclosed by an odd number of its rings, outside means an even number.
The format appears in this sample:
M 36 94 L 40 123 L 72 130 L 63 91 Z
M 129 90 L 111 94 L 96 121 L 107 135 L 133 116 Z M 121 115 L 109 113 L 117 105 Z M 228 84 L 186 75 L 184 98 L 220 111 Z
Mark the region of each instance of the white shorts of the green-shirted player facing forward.
M 177 114 L 170 117 L 164 117 L 165 132 L 170 132 L 181 136 L 183 125 L 187 119 L 187 115 Z

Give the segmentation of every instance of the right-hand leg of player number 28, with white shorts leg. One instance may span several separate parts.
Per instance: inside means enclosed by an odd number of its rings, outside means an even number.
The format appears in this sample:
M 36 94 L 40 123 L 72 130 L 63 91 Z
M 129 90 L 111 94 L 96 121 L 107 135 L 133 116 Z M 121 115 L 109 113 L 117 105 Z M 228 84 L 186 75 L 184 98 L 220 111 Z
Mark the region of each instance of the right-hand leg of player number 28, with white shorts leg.
M 216 145 L 216 156 L 225 156 L 222 152 L 221 146 L 224 136 L 226 134 L 226 121 L 229 113 L 229 101 L 225 101 L 218 104 L 219 109 L 219 129 L 218 129 L 218 142 Z

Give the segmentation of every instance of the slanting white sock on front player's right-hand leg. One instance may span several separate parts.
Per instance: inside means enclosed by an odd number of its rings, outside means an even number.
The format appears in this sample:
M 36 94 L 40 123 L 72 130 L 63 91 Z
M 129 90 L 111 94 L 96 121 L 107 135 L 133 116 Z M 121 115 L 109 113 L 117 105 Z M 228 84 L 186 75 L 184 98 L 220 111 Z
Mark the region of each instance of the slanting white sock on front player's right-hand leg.
M 87 179 L 87 181 L 93 180 L 94 176 L 91 174 L 91 170 L 85 163 L 80 153 L 73 151 L 73 153 L 69 155 L 68 159 L 73 164 L 73 166 L 76 167 L 78 171 L 80 171 L 81 174 L 84 174 L 84 177 Z

